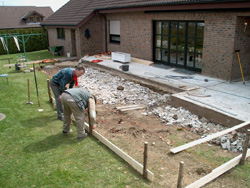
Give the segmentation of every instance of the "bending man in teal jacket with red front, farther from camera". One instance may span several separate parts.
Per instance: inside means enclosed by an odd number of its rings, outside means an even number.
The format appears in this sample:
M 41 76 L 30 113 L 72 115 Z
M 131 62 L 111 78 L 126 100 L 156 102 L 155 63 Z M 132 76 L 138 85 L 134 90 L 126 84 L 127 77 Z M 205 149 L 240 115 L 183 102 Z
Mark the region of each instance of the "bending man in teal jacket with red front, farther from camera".
M 61 94 L 65 91 L 66 85 L 69 84 L 69 88 L 73 88 L 74 85 L 78 86 L 77 77 L 82 76 L 85 73 L 84 67 L 76 68 L 64 68 L 56 73 L 52 79 L 50 79 L 50 87 L 55 95 L 57 118 L 63 121 L 63 108 L 60 102 Z

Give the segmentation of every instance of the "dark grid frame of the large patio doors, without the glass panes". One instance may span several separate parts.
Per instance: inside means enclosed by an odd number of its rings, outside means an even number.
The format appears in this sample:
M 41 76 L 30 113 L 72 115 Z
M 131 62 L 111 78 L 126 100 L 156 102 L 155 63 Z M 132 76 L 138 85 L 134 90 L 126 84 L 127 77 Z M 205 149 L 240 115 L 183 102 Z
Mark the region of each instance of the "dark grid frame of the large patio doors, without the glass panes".
M 190 37 L 189 35 L 189 30 L 188 26 L 190 23 L 195 24 L 195 30 L 194 30 L 194 36 Z M 163 32 L 163 25 L 167 24 L 168 25 L 168 32 L 167 34 Z M 177 30 L 176 29 L 171 29 L 172 24 L 177 24 Z M 180 30 L 180 24 L 183 24 L 182 28 L 183 30 Z M 184 25 L 185 24 L 185 25 Z M 203 36 L 197 35 L 197 25 L 201 24 L 203 25 Z M 163 63 L 166 65 L 173 65 L 177 67 L 182 67 L 185 69 L 191 69 L 200 72 L 202 69 L 201 67 L 197 67 L 196 63 L 199 64 L 197 56 L 199 56 L 199 60 L 201 60 L 202 63 L 202 55 L 203 55 L 203 44 L 201 51 L 197 51 L 197 41 L 203 41 L 204 43 L 204 27 L 205 27 L 205 22 L 202 20 L 153 20 L 153 25 L 154 25 L 154 38 L 153 38 L 153 59 L 155 62 Z M 159 28 L 158 28 L 159 27 Z M 180 33 L 185 32 L 185 33 Z M 167 38 L 167 46 L 163 46 L 163 38 Z M 159 40 L 160 41 L 157 41 Z M 181 39 L 181 40 L 180 40 Z M 190 52 L 188 50 L 188 40 L 193 39 L 194 40 L 194 51 Z M 173 46 L 173 40 L 176 40 L 176 45 Z M 181 43 L 180 43 L 181 42 Z M 183 49 L 180 48 L 181 44 L 184 45 Z M 163 56 L 163 51 L 165 50 L 165 53 L 167 56 Z M 174 56 L 171 56 L 171 53 L 176 54 Z M 188 54 L 192 53 L 192 57 L 194 58 L 193 60 L 193 65 L 190 66 L 188 64 Z M 174 59 L 173 59 L 174 58 Z M 174 60 L 174 62 L 173 62 Z M 196 62 L 197 60 L 197 62 Z M 183 64 L 181 64 L 181 61 L 183 61 Z M 201 64 L 202 65 L 202 64 Z

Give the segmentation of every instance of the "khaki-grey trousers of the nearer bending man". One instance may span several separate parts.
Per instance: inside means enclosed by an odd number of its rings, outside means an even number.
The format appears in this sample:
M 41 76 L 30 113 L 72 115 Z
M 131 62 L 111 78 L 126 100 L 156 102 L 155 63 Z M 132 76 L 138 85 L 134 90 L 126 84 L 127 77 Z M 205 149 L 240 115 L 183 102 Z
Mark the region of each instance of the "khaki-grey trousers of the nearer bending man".
M 76 129 L 77 136 L 83 137 L 85 133 L 84 129 L 84 121 L 85 121 L 85 112 L 81 110 L 81 108 L 74 101 L 73 97 L 68 93 L 62 94 L 62 104 L 64 111 L 64 120 L 63 120 L 63 131 L 69 132 L 70 130 L 70 122 L 71 122 L 71 114 L 73 113 L 76 120 Z

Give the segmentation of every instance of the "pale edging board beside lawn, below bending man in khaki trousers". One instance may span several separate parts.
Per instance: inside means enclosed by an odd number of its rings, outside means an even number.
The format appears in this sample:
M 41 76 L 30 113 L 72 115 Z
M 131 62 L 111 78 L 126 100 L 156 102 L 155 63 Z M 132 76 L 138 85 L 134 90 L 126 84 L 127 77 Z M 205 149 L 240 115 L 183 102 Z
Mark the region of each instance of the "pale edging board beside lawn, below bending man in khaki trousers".
M 89 125 L 85 122 L 84 123 L 85 128 L 89 130 Z M 106 139 L 104 136 L 99 134 L 97 131 L 93 130 L 92 132 L 93 136 L 96 137 L 98 140 L 100 140 L 104 145 L 106 145 L 109 149 L 111 149 L 113 152 L 115 152 L 117 155 L 119 155 L 123 160 L 125 160 L 128 164 L 130 164 L 137 172 L 139 172 L 141 175 L 143 174 L 143 165 L 134 160 L 132 157 L 130 157 L 128 154 L 126 154 L 124 151 L 119 149 L 116 145 L 111 143 L 108 139 Z M 147 178 L 150 181 L 154 180 L 154 174 L 147 169 Z

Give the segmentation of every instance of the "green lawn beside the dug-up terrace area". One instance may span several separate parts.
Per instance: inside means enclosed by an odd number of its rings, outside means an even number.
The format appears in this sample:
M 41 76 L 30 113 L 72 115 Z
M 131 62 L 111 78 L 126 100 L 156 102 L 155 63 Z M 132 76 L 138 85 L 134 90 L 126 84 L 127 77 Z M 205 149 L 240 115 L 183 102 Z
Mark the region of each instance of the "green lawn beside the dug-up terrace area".
M 36 71 L 39 107 L 34 73 L 3 67 L 8 61 L 1 59 L 15 59 L 17 55 L 0 56 L 0 74 L 8 74 L 9 78 L 9 85 L 0 78 L 0 113 L 6 115 L 0 121 L 0 187 L 154 186 L 95 138 L 78 142 L 75 126 L 72 134 L 63 136 L 62 122 L 48 102 L 47 75 Z M 27 53 L 27 60 L 37 60 L 38 56 L 52 58 L 43 50 Z M 28 79 L 33 105 L 26 104 Z

